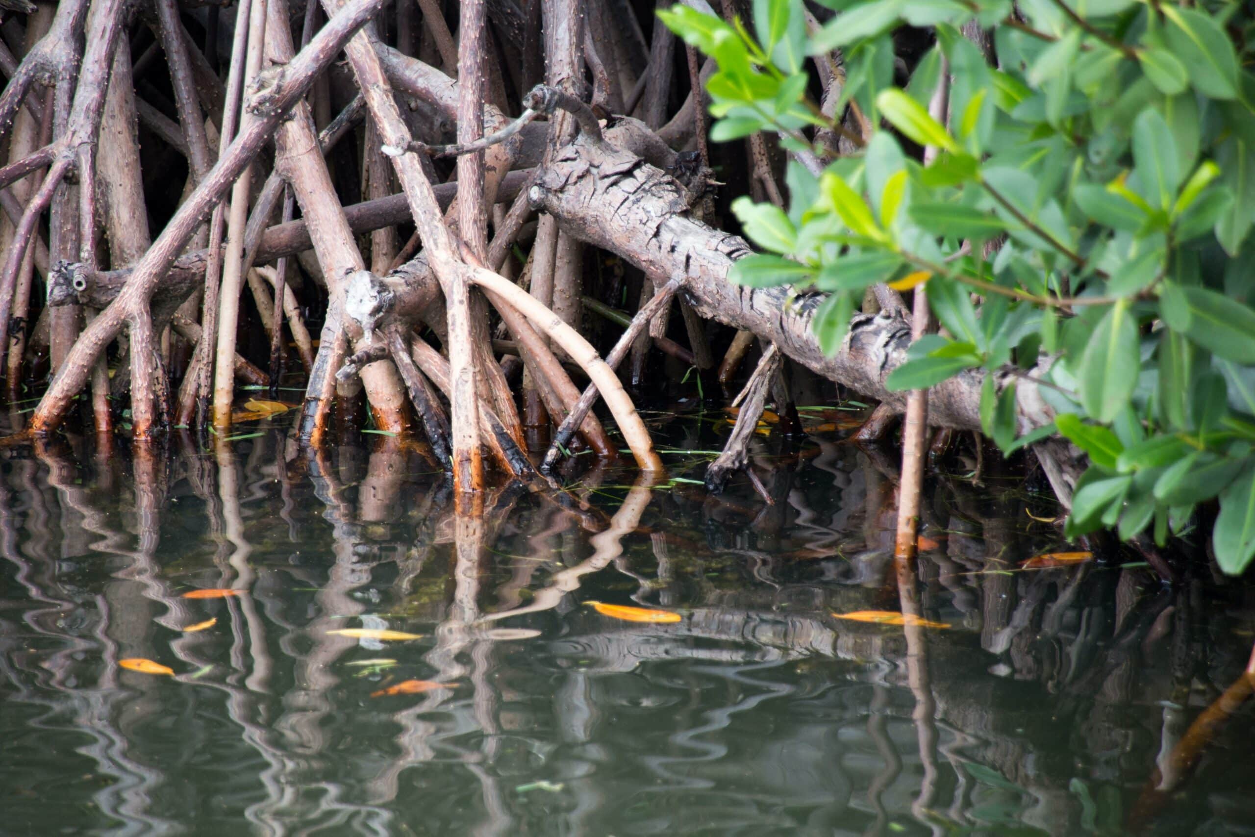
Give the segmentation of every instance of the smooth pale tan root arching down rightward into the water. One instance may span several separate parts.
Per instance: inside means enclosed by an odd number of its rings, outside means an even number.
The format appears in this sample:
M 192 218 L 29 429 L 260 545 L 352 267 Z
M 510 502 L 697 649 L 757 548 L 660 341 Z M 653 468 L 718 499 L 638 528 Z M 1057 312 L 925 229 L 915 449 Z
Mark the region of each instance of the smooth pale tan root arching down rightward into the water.
M 502 279 L 491 270 L 482 267 L 468 267 L 467 277 L 491 295 L 502 297 L 506 302 L 518 309 L 520 314 L 537 329 L 543 331 L 553 343 L 560 345 L 571 360 L 577 363 L 592 383 L 597 385 L 601 399 L 606 403 L 610 413 L 615 417 L 619 432 L 624 434 L 624 440 L 631 449 L 636 466 L 641 471 L 661 473 L 663 461 L 654 450 L 654 442 L 645 429 L 645 423 L 636 413 L 631 398 L 619 383 L 619 375 L 611 369 L 597 350 L 585 340 L 579 331 L 563 323 L 553 311 L 541 305 L 541 302 L 521 289 L 518 285 Z

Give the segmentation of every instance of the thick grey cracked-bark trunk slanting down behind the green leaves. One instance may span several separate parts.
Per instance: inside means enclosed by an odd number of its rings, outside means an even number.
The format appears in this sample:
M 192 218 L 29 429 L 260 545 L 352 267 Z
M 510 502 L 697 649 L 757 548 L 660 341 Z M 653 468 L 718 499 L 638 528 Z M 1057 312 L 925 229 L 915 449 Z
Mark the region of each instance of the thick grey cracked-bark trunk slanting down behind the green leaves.
M 575 237 L 630 261 L 655 285 L 683 276 L 681 294 L 700 316 L 752 331 L 814 373 L 895 412 L 906 409 L 906 393 L 890 392 L 885 380 L 906 360 L 910 324 L 897 316 L 856 315 L 841 349 L 825 355 L 811 329 L 822 294 L 793 297 L 788 287 L 730 282 L 733 262 L 752 252 L 745 240 L 694 218 L 681 183 L 616 148 L 615 132 L 606 139 L 594 144 L 580 137 L 558 149 L 536 173 L 528 191 L 532 207 L 552 215 Z M 929 422 L 979 430 L 983 381 L 983 371 L 968 370 L 934 387 Z M 1029 379 L 1019 380 L 1017 404 L 1022 433 L 1053 419 Z

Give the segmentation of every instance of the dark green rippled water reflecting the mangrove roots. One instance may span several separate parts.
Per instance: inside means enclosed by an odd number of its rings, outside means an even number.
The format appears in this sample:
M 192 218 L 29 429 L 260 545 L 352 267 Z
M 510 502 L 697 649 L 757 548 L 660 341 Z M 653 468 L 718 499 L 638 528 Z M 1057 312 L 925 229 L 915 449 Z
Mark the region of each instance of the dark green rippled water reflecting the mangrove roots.
M 0 834 L 1255 833 L 1251 706 L 1168 764 L 1246 664 L 1246 586 L 1022 567 L 1082 547 L 1022 479 L 959 473 L 900 578 L 889 457 L 764 437 L 774 504 L 709 497 L 722 415 L 655 417 L 679 479 L 594 469 L 479 530 L 382 435 L 6 450 Z M 948 627 L 833 617 L 904 600 Z M 408 680 L 444 688 L 379 694 Z

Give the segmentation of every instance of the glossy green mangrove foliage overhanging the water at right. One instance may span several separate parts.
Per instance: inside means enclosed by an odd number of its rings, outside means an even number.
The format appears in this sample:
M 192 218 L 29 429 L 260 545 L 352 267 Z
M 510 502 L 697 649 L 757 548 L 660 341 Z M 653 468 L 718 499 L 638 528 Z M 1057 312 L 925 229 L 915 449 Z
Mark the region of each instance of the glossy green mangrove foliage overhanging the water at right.
M 1251 6 L 822 3 L 835 14 L 812 31 L 801 0 L 754 0 L 752 30 L 659 13 L 718 61 L 713 138 L 773 132 L 827 163 L 789 163 L 787 208 L 733 205 L 759 248 L 733 281 L 826 295 L 813 328 L 828 353 L 867 287 L 926 282 L 941 333 L 911 346 L 890 388 L 984 370 L 981 422 L 1004 452 L 1060 433 L 1087 453 L 1071 533 L 1162 543 L 1219 498 L 1215 555 L 1242 571 L 1255 557 Z M 963 36 L 973 23 L 993 30 L 995 63 Z M 895 84 L 902 26 L 935 43 Z M 807 97 L 808 56 L 843 65 L 835 117 Z M 929 113 L 939 85 L 945 118 Z M 825 158 L 814 129 L 847 124 L 870 125 L 860 152 Z M 1052 425 L 1020 425 L 1025 380 Z

